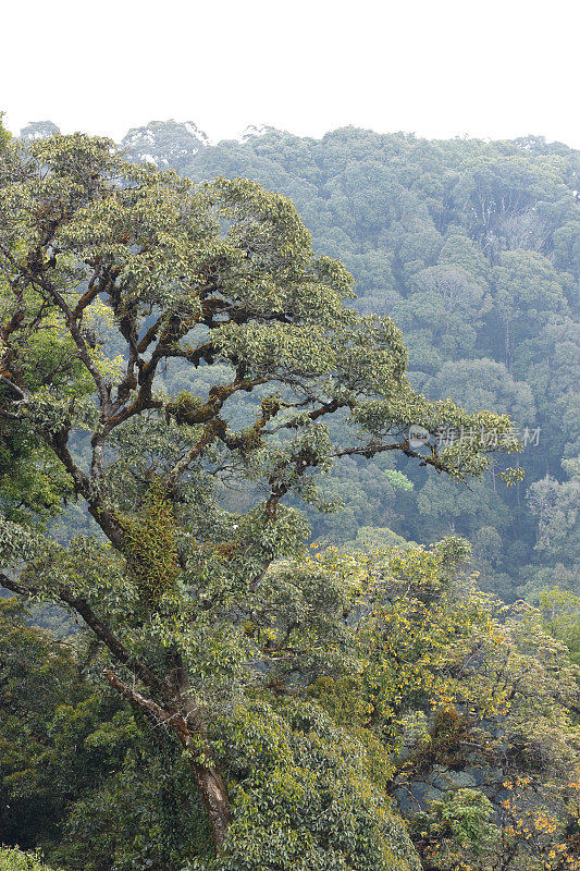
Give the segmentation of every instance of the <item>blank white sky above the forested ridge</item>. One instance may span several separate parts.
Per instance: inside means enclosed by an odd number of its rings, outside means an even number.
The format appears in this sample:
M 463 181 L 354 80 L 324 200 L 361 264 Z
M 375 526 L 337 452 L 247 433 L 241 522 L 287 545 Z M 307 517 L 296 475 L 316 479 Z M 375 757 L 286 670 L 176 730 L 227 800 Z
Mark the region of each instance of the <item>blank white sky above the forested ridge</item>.
M 8 0 L 0 110 L 17 132 L 120 139 L 175 118 L 355 124 L 447 137 L 533 133 L 580 147 L 575 0 Z

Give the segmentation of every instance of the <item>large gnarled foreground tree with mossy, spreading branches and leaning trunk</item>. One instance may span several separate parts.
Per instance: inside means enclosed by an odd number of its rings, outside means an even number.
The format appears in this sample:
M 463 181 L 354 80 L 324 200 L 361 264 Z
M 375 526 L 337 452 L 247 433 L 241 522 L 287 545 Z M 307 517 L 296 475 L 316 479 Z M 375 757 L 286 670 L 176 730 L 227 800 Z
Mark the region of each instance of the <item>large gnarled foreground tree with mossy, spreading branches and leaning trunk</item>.
M 390 451 L 479 476 L 497 450 L 490 430 L 516 450 L 509 418 L 416 393 L 393 322 L 344 306 L 350 275 L 255 183 L 195 186 L 74 135 L 10 146 L 0 186 L 3 426 L 25 428 L 52 463 L 54 500 L 73 494 L 96 529 L 61 545 L 33 504 L 7 505 L 0 582 L 82 617 L 109 685 L 181 743 L 226 862 L 232 808 L 208 711 L 252 684 L 252 597 L 274 560 L 301 552 L 305 523 L 284 498 L 328 508 L 317 473 Z M 158 376 L 176 365 L 224 377 L 169 396 Z M 338 415 L 340 443 L 324 424 Z M 430 434 L 424 450 L 410 424 Z M 449 426 L 473 440 L 439 450 Z M 235 514 L 224 492 L 240 481 L 257 498 Z

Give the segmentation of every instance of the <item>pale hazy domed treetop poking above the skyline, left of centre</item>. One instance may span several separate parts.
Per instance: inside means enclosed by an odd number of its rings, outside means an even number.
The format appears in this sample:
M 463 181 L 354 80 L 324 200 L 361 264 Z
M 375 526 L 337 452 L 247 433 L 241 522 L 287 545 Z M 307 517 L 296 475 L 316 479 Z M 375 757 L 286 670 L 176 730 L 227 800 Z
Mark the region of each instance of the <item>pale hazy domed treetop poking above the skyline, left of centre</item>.
M 177 172 L 209 145 L 207 135 L 193 121 L 151 121 L 145 127 L 129 130 L 121 143 L 131 160 Z

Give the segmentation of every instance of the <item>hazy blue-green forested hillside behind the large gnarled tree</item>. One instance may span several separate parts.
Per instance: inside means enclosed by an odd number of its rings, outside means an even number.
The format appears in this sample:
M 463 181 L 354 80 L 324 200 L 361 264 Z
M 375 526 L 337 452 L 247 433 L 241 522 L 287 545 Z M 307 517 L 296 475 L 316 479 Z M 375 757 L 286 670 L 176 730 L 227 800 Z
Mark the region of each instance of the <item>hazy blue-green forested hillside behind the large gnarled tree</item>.
M 242 175 L 289 196 L 317 250 L 351 271 L 358 310 L 402 329 L 415 387 L 516 421 L 516 488 L 492 478 L 469 491 L 404 457 L 353 459 L 328 483 L 345 508 L 311 513 L 314 537 L 456 532 L 472 542 L 483 588 L 508 601 L 578 590 L 578 151 L 532 136 L 431 142 L 353 127 L 321 140 L 249 130 L 208 146 L 175 122 L 131 131 L 123 146 L 195 180 Z M 395 467 L 406 478 L 384 474 Z

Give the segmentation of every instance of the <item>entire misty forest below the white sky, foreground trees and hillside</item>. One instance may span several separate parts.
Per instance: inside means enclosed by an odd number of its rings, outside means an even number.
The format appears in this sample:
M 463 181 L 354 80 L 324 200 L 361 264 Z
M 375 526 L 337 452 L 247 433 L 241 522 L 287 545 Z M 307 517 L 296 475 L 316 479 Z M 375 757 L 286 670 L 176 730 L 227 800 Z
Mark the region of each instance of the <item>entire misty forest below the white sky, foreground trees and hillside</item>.
M 0 871 L 580 869 L 579 189 L 0 126 Z

